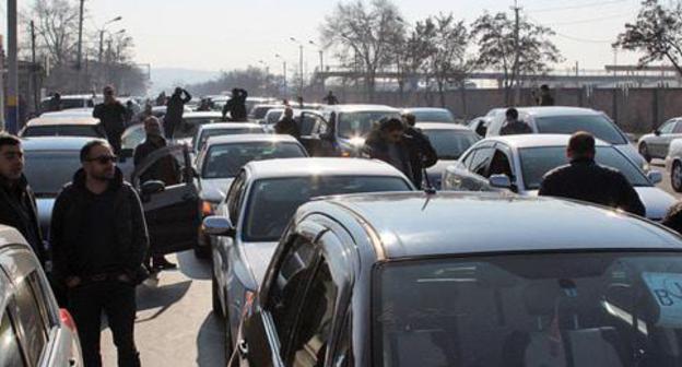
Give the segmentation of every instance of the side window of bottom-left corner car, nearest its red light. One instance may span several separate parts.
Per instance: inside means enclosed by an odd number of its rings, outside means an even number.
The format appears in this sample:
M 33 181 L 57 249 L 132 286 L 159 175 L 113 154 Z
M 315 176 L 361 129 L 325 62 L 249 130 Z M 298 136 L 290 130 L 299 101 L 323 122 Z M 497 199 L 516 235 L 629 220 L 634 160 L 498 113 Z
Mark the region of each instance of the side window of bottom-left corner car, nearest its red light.
M 23 345 L 28 355 L 28 365 L 37 366 L 48 340 L 48 328 L 38 298 L 25 277 L 16 285 L 14 301 L 16 303 L 16 324 L 24 331 Z

